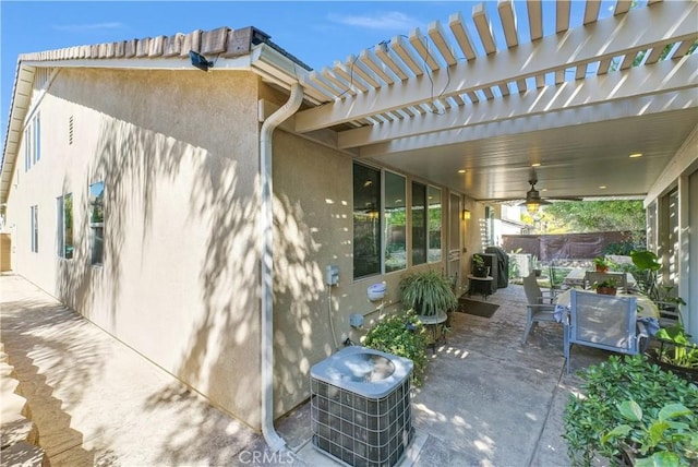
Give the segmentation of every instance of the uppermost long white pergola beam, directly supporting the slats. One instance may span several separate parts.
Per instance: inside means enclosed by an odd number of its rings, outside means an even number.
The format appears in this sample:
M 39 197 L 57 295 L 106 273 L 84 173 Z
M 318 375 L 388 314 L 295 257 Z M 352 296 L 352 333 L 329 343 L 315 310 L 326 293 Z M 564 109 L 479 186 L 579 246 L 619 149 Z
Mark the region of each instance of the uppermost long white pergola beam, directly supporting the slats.
M 435 71 L 432 76 L 405 79 L 399 86 L 369 91 L 345 101 L 301 111 L 296 131 L 312 131 L 417 106 L 432 99 L 433 88 L 443 89 L 440 93 L 442 98 L 470 95 L 485 87 L 662 47 L 698 34 L 695 22 L 698 2 L 664 2 L 661 9 L 639 9 L 633 14 L 633 22 L 624 21 L 626 15 L 621 15 L 597 22 L 593 31 L 570 29 L 562 44 L 556 36 L 546 36 L 535 43 L 500 51 L 489 59 L 459 62 L 448 70 Z M 609 41 L 609 37 L 614 37 L 614 40 Z M 387 56 L 387 51 L 383 52 Z

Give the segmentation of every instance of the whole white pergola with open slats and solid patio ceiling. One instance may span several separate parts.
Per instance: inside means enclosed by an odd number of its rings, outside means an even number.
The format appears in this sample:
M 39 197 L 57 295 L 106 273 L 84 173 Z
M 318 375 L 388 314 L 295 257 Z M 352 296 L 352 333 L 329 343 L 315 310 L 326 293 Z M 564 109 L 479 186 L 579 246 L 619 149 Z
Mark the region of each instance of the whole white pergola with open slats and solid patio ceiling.
M 599 19 L 589 0 L 570 27 L 557 1 L 543 36 L 529 0 L 526 41 L 514 2 L 496 19 L 494 3 L 302 74 L 313 106 L 292 130 L 474 200 L 521 199 L 538 164 L 544 197 L 645 196 L 698 123 L 698 2 L 617 1 Z

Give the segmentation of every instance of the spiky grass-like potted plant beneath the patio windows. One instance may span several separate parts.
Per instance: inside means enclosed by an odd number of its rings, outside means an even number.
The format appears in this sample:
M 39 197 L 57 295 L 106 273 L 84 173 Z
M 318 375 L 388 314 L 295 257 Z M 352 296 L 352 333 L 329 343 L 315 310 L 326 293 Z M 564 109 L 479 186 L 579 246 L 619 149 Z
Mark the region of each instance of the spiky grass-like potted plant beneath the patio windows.
M 402 277 L 400 297 L 406 309 L 424 316 L 435 316 L 458 307 L 450 278 L 432 270 Z

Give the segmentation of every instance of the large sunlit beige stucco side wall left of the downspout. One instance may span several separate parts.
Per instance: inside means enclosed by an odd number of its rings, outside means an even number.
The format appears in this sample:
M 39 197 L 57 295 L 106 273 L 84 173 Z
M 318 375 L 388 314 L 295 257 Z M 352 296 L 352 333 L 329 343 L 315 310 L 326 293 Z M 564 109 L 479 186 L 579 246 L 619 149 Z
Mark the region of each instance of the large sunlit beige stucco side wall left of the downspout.
M 244 72 L 61 70 L 38 103 L 41 159 L 24 172 L 20 148 L 8 205 L 15 272 L 256 429 L 257 87 Z M 105 261 L 91 266 L 88 185 L 99 180 Z M 63 193 L 73 260 L 56 253 Z

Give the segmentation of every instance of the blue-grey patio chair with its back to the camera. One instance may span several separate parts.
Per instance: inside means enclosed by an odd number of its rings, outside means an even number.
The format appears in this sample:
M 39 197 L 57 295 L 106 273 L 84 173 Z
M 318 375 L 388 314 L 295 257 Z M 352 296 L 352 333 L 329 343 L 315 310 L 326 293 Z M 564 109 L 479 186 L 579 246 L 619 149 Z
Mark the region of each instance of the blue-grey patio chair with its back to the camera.
M 570 294 L 569 316 L 563 320 L 567 373 L 571 360 L 570 349 L 575 344 L 619 354 L 640 354 L 640 340 L 648 336 L 637 331 L 635 297 L 589 294 L 575 289 Z

